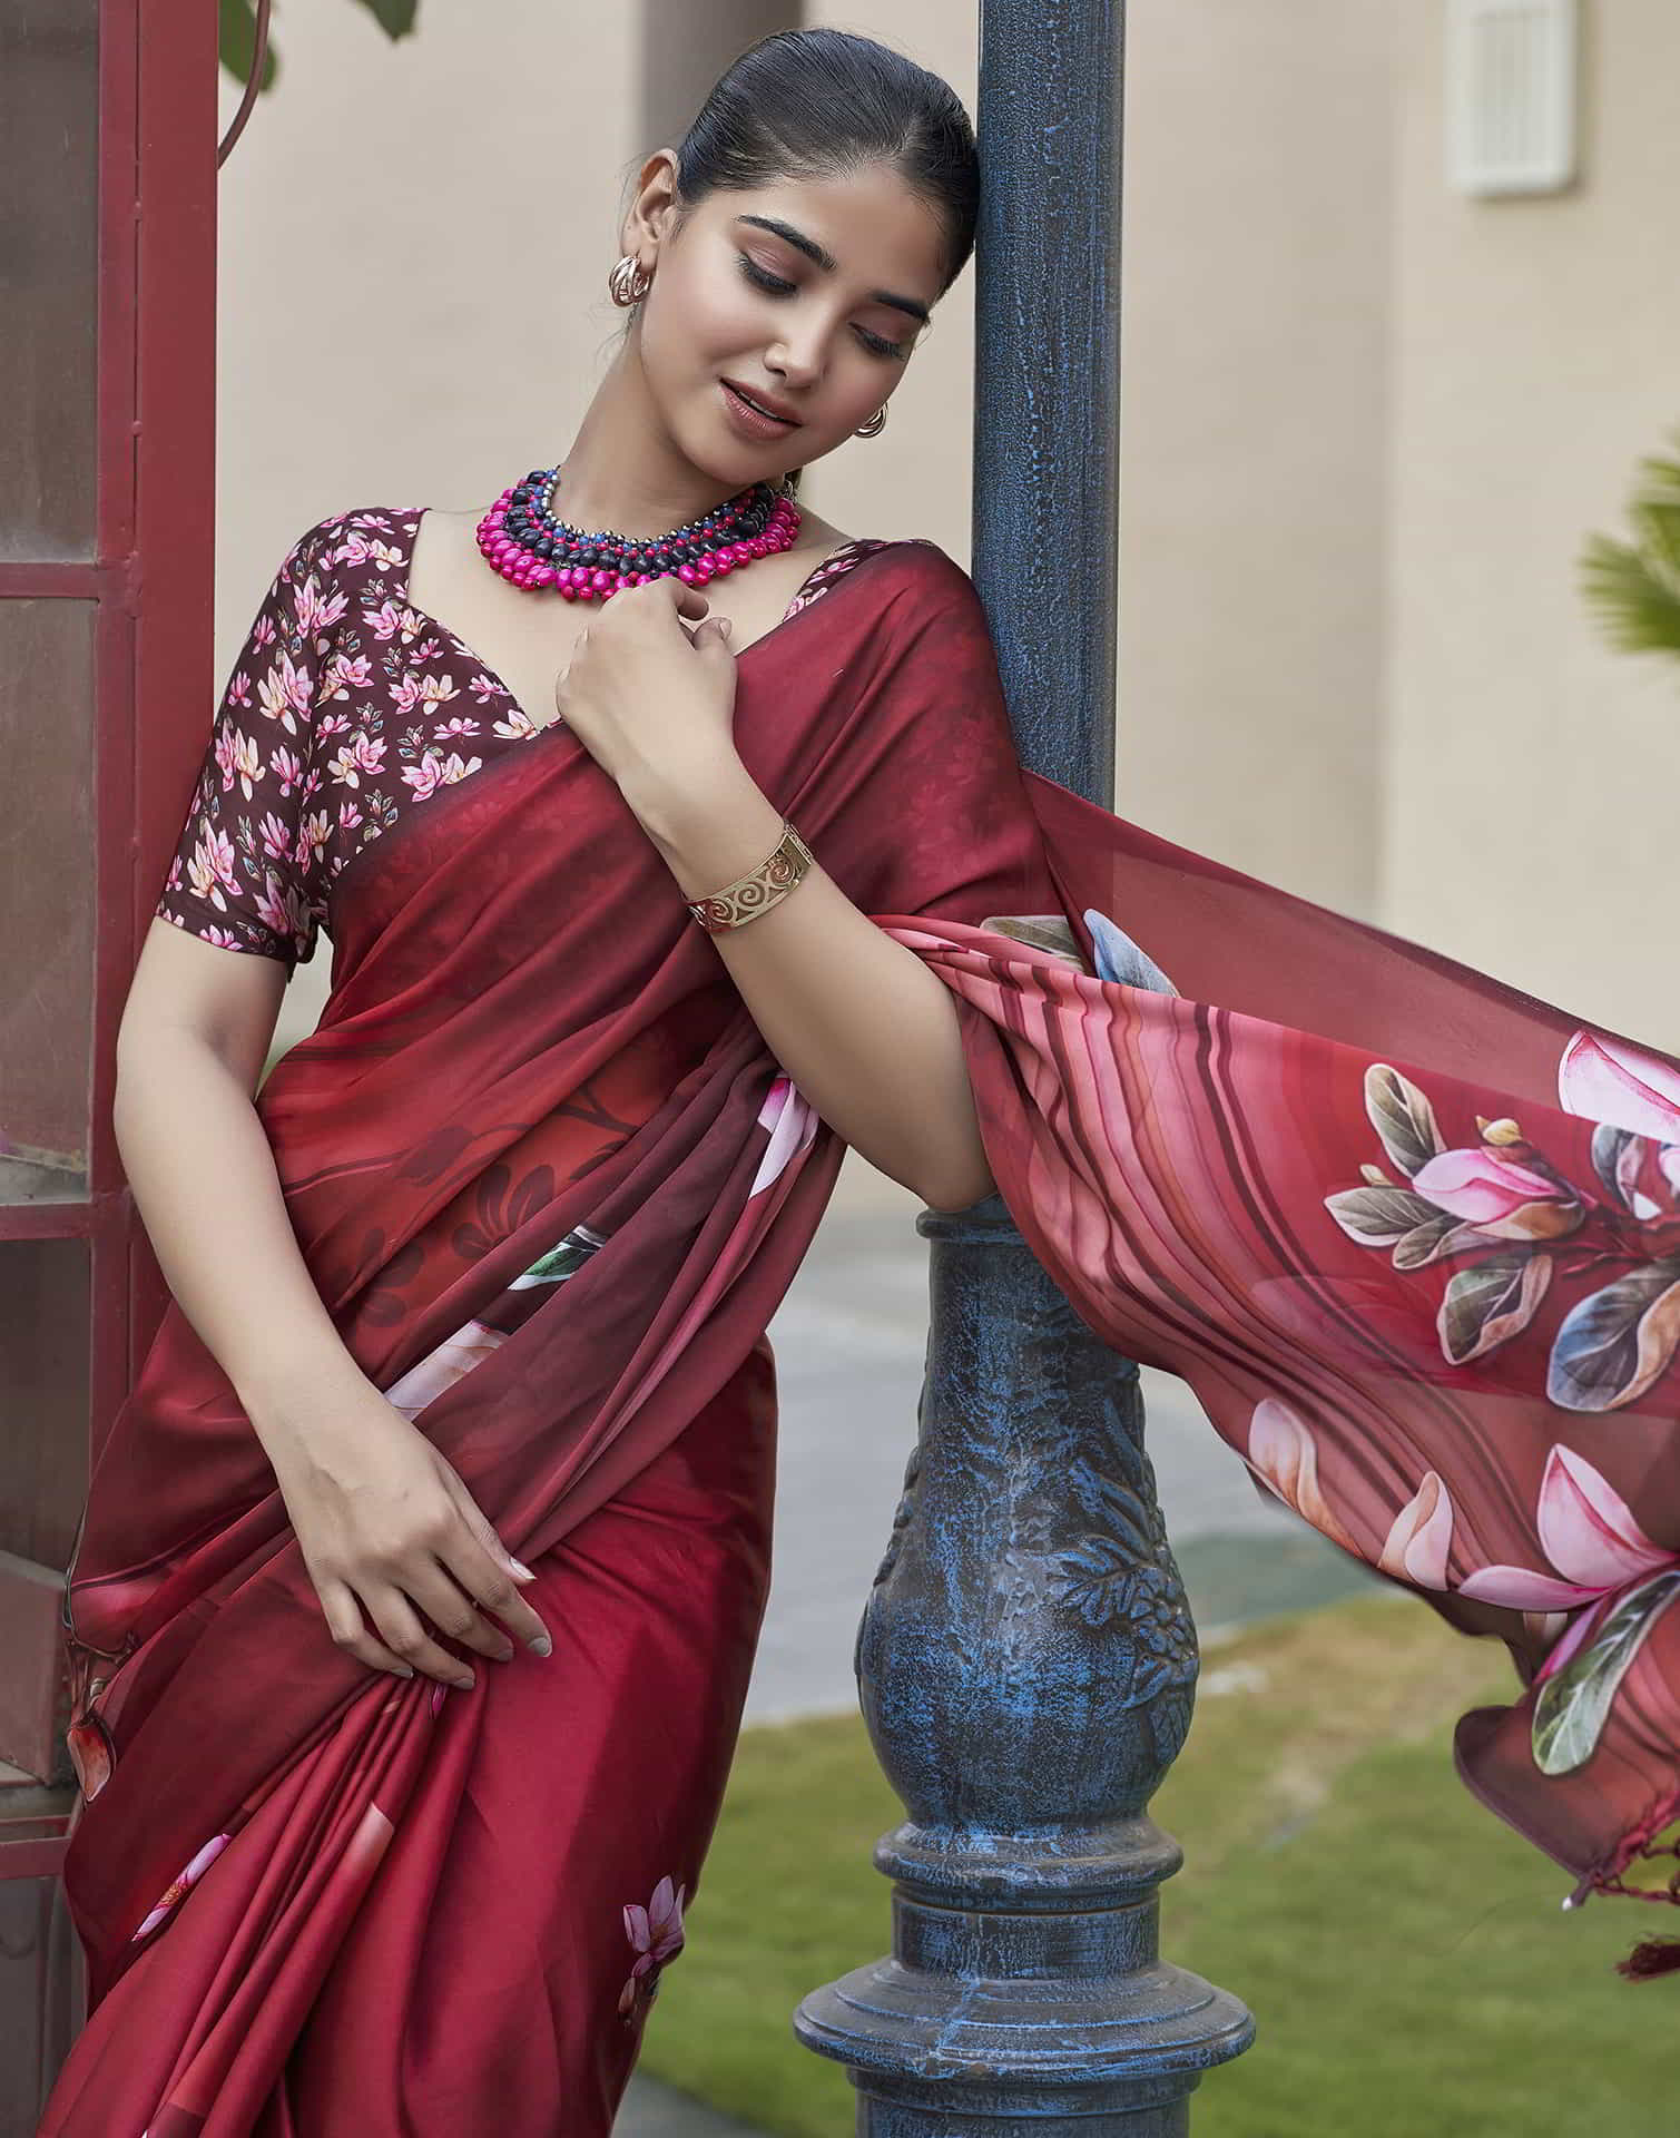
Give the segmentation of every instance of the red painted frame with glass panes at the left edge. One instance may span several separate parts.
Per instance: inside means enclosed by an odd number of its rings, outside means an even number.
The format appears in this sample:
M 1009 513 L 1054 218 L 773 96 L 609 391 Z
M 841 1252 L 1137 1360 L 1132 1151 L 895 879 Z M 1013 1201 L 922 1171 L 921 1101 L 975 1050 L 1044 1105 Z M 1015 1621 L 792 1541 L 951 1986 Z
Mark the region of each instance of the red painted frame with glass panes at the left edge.
M 216 43 L 214 0 L 100 0 L 96 554 L 0 562 L 0 601 L 98 609 L 88 1197 L 0 1204 L 0 1240 L 88 1240 L 90 1465 L 167 1304 L 111 1099 L 128 981 L 214 691 Z M 73 1809 L 66 1785 L 0 1787 L 0 1879 L 58 1875 Z

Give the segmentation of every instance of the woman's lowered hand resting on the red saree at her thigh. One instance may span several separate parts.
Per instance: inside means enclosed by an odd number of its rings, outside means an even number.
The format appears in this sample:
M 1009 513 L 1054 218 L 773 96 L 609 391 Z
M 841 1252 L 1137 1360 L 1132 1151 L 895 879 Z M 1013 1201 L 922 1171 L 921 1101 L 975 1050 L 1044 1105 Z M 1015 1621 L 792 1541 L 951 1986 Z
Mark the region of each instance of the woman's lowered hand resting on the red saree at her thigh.
M 460 1473 L 372 1381 L 310 1403 L 306 1420 L 291 1409 L 252 1424 L 327 1631 L 346 1655 L 395 1676 L 419 1670 L 472 1685 L 470 1668 L 432 1638 L 421 1612 L 496 1661 L 513 1655 L 513 1642 L 483 1612 L 539 1655 L 551 1653 L 547 1627 L 519 1595 L 513 1556 Z

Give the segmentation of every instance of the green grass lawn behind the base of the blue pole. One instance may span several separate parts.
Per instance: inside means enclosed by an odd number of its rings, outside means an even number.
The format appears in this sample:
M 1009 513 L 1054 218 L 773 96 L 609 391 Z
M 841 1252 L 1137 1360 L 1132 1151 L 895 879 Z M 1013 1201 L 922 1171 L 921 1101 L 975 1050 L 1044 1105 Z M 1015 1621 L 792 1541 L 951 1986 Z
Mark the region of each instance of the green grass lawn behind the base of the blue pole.
M 1612 1899 L 1562 1914 L 1569 1875 L 1453 1775 L 1453 1719 L 1513 1683 L 1498 1644 L 1387 1593 L 1203 1655 L 1152 1804 L 1186 1856 L 1161 1943 L 1259 2035 L 1203 2078 L 1197 2138 L 1680 2132 L 1680 1978 L 1614 1973 L 1680 1920 Z M 870 1849 L 902 1817 L 859 1719 L 744 1732 L 641 2070 L 767 2132 L 844 2138 L 853 2089 L 791 2014 L 889 1950 Z

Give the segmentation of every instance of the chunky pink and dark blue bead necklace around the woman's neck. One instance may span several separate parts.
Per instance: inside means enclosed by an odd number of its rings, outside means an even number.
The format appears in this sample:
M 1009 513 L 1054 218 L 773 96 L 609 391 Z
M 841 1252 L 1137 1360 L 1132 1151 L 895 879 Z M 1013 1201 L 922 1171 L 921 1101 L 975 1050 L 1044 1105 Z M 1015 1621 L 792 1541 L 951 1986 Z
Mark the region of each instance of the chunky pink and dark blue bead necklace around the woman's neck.
M 607 601 L 624 586 L 673 573 L 705 586 L 755 558 L 793 545 L 799 507 L 774 483 L 750 483 L 669 534 L 586 532 L 551 511 L 560 468 L 532 468 L 504 490 L 479 522 L 479 549 L 492 571 L 536 592 L 554 588 L 566 601 Z

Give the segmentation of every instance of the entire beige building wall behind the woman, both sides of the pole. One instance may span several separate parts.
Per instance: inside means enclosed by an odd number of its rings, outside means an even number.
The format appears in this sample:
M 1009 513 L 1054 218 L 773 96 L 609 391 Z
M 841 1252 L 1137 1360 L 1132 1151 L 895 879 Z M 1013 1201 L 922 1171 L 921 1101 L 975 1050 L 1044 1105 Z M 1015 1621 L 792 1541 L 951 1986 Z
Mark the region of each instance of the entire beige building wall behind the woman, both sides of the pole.
M 1603 648 L 1575 556 L 1680 415 L 1680 11 L 1586 0 L 1586 180 L 1500 203 L 1441 175 L 1441 17 L 1129 9 L 1118 808 L 1676 1043 L 1676 682 Z M 628 180 L 774 19 L 502 0 L 391 45 L 348 4 L 280 17 L 286 75 L 222 171 L 220 676 L 312 520 L 483 502 L 564 449 Z M 808 19 L 973 109 L 977 0 Z M 962 562 L 973 286 L 885 434 L 806 477 L 849 532 Z

